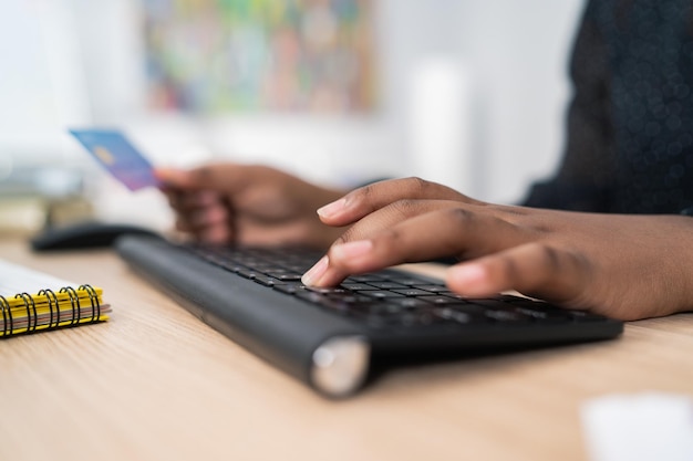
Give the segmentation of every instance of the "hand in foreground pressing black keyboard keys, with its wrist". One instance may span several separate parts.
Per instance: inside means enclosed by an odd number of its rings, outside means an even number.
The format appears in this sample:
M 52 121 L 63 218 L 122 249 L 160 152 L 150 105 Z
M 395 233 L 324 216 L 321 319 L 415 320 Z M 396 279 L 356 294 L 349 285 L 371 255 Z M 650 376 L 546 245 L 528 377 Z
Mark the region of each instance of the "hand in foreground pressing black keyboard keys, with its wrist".
M 451 290 L 516 290 L 569 308 L 637 319 L 693 308 L 693 219 L 495 206 L 416 178 L 354 190 L 321 208 L 353 224 L 303 276 L 329 286 L 390 265 L 457 256 Z

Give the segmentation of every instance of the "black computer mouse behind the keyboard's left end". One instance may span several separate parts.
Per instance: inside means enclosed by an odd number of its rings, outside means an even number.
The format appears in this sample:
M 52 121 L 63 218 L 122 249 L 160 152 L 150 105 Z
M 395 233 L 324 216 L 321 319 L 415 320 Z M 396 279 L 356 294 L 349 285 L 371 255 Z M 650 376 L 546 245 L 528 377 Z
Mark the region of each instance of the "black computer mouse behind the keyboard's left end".
M 31 239 L 31 248 L 34 251 L 107 248 L 118 237 L 132 233 L 161 237 L 154 230 L 136 224 L 85 221 L 46 229 Z

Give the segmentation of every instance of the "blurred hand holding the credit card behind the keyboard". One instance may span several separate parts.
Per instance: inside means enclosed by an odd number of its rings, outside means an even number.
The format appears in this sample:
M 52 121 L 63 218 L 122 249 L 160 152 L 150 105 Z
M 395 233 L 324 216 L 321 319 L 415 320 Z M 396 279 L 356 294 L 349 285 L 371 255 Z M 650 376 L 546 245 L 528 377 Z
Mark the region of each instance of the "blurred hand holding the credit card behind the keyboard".
M 215 164 L 156 175 L 176 211 L 176 228 L 200 241 L 324 249 L 342 232 L 320 222 L 314 210 L 343 191 L 273 168 Z

